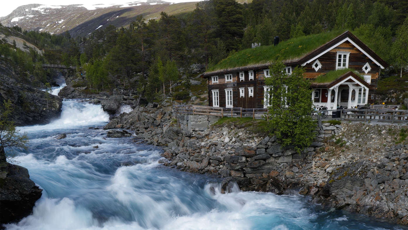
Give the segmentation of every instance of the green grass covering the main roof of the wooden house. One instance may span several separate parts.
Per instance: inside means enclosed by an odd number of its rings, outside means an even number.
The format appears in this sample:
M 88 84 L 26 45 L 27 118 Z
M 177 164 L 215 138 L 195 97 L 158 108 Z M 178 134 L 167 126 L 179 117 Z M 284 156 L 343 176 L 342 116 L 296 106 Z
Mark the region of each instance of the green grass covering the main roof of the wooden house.
M 260 46 L 254 49 L 244 49 L 230 54 L 217 65 L 210 67 L 207 71 L 230 69 L 246 65 L 266 64 L 278 57 L 280 60 L 301 58 L 311 51 L 324 45 L 333 38 L 344 33 L 344 30 L 330 31 L 299 38 L 291 38 L 280 42 L 278 45 Z

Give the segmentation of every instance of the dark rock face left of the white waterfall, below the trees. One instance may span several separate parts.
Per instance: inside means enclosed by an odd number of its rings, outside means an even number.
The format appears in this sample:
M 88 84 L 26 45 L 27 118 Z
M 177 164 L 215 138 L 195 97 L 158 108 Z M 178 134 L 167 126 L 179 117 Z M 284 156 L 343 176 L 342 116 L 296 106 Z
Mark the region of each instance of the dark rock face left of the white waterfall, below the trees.
M 61 113 L 62 99 L 0 74 L 0 104 L 11 100 L 15 125 L 49 123 Z

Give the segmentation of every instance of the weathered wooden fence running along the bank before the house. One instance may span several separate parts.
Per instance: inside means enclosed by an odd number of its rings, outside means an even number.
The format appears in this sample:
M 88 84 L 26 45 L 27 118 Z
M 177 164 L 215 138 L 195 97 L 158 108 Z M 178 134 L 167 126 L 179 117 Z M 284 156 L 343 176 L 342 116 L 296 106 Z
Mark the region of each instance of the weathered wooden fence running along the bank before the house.
M 394 108 L 394 107 L 392 107 Z M 220 117 L 252 117 L 253 119 L 269 119 L 268 109 L 244 109 L 220 108 L 203 105 L 173 105 L 173 112 L 179 114 L 209 115 Z M 326 114 L 335 114 L 327 115 Z M 337 116 L 336 116 L 337 115 Z M 310 116 L 315 119 L 332 120 L 339 119 L 345 121 L 377 121 L 388 123 L 408 123 L 408 110 L 396 110 L 390 108 L 370 108 L 370 109 L 331 109 L 314 111 Z

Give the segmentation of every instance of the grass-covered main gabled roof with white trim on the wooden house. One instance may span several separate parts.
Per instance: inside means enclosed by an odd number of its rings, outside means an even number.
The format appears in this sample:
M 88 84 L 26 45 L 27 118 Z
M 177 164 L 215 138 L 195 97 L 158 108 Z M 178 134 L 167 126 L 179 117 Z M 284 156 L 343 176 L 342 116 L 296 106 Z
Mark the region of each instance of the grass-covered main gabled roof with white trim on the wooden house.
M 308 35 L 280 42 L 277 46 L 260 46 L 254 49 L 237 51 L 206 71 L 202 74 L 202 77 L 208 77 L 214 74 L 227 74 L 234 71 L 262 68 L 267 69 L 277 56 L 283 59 L 285 65 L 303 66 L 345 41 L 352 43 L 381 68 L 388 66 L 383 59 L 375 54 L 374 51 L 367 47 L 350 31 L 341 33 L 339 36 L 332 39 L 333 36 L 336 36 L 337 34 L 339 34 L 339 32 L 333 31 Z

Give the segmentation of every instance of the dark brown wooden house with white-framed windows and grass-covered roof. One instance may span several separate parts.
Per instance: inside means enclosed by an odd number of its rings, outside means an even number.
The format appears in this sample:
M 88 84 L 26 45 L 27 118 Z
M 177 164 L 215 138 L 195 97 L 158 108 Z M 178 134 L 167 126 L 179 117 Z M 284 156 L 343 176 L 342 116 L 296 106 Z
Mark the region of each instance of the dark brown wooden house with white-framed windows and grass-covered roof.
M 296 66 L 304 67 L 315 107 L 353 108 L 373 103 L 378 75 L 387 63 L 350 31 L 335 38 L 328 38 L 330 35 L 290 39 L 276 46 L 239 51 L 222 60 L 202 74 L 208 79 L 209 105 L 267 107 L 271 86 L 266 86 L 264 79 L 277 56 L 284 60 L 284 71 L 289 75 Z

